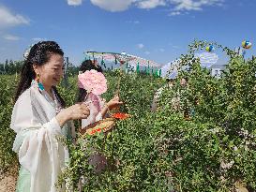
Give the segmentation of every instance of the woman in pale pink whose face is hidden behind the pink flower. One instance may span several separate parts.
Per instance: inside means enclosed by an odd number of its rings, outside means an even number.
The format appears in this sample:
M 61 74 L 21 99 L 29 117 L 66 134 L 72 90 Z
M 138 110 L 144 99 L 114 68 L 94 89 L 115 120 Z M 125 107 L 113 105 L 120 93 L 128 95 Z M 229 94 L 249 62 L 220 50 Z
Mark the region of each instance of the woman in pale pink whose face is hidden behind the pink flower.
M 98 65 L 94 65 L 91 60 L 83 61 L 80 66 L 80 70 L 84 73 L 86 70 L 97 70 L 102 73 L 102 68 Z M 80 84 L 80 82 L 79 82 Z M 87 96 L 87 92 L 83 88 L 79 88 L 78 94 L 78 102 L 88 103 L 90 109 L 90 115 L 88 118 L 82 120 L 82 127 L 89 126 L 99 120 L 102 120 L 103 117 L 106 116 L 107 111 L 118 107 L 123 104 L 123 102 L 119 101 L 119 96 L 114 96 L 109 102 L 105 102 L 101 96 L 94 95 L 93 93 L 89 93 Z

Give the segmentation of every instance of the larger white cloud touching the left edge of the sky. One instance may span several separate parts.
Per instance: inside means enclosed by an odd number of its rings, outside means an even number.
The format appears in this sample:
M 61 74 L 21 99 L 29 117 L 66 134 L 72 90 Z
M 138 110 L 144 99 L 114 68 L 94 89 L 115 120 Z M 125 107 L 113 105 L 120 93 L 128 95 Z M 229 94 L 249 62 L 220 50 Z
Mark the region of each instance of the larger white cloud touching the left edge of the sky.
M 20 24 L 29 24 L 22 15 L 11 13 L 7 7 L 0 6 L 0 28 L 8 28 Z

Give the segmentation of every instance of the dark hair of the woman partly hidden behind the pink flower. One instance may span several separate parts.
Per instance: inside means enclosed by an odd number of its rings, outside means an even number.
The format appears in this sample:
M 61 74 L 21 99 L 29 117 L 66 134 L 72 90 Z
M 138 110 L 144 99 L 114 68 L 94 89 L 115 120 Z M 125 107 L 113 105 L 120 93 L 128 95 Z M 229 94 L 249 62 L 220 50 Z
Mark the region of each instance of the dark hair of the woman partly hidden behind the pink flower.
M 97 70 L 98 72 L 102 73 L 103 70 L 101 68 L 101 66 L 95 66 L 92 62 L 92 60 L 84 60 L 83 63 L 81 64 L 80 66 L 80 71 L 83 71 L 83 73 L 86 71 L 86 70 L 92 70 L 92 69 L 95 69 Z M 84 101 L 84 97 L 87 95 L 87 92 L 85 89 L 83 88 L 79 88 L 78 90 L 78 99 L 77 99 L 77 102 L 83 102 Z

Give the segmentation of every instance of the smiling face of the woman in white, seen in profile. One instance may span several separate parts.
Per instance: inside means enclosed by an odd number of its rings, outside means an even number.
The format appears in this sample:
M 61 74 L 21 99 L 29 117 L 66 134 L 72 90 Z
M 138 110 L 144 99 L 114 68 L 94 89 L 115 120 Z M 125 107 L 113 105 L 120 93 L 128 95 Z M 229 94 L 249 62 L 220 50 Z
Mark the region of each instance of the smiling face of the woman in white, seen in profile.
M 39 81 L 45 88 L 56 86 L 64 74 L 64 58 L 60 54 L 51 54 L 49 61 L 43 66 L 35 66 L 36 73 L 39 73 Z

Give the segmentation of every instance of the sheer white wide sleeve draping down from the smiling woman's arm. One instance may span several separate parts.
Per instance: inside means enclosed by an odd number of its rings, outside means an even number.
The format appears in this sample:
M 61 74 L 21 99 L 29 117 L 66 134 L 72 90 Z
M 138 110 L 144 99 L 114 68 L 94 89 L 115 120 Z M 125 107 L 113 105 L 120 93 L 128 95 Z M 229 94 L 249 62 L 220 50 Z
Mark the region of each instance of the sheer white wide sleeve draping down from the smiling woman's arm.
M 62 136 L 61 127 L 54 116 L 49 122 L 39 122 L 30 101 L 29 96 L 22 96 L 12 111 L 10 127 L 17 133 L 13 151 L 31 173 L 31 191 L 55 191 L 54 183 L 65 161 L 64 147 L 57 140 Z

